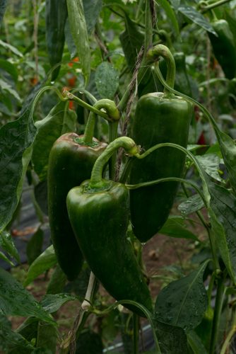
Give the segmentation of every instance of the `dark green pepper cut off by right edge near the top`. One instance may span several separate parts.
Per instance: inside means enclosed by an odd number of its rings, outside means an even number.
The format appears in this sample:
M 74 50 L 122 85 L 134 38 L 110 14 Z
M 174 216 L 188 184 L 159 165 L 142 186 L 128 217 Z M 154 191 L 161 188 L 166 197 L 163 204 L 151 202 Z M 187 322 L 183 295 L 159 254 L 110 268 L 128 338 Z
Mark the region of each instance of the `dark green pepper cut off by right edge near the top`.
M 225 20 L 217 20 L 211 23 L 218 34 L 208 33 L 213 47 L 213 52 L 222 67 L 225 77 L 233 79 L 236 76 L 236 47 L 230 26 Z

